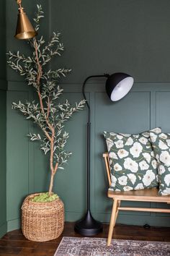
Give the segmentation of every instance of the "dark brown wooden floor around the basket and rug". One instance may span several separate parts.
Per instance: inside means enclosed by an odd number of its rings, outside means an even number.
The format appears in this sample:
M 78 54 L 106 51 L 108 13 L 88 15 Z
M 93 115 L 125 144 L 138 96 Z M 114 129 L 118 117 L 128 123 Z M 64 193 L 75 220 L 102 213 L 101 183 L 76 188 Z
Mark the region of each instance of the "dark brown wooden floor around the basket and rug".
M 108 225 L 104 225 L 101 234 L 95 237 L 107 237 Z M 3 256 L 53 256 L 63 236 L 80 236 L 73 231 L 73 223 L 66 223 L 63 234 L 50 242 L 32 242 L 24 238 L 20 230 L 7 233 L 0 239 L 0 255 Z M 141 226 L 116 225 L 115 239 L 133 239 L 170 242 L 170 228 L 144 229 Z

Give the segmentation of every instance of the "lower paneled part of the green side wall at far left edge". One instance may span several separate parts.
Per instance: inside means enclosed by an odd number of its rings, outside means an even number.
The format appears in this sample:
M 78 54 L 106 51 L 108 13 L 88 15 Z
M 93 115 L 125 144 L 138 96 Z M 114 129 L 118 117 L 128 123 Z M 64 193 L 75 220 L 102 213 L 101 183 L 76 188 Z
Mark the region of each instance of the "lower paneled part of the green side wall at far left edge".
M 6 82 L 0 85 L 0 237 L 6 233 Z

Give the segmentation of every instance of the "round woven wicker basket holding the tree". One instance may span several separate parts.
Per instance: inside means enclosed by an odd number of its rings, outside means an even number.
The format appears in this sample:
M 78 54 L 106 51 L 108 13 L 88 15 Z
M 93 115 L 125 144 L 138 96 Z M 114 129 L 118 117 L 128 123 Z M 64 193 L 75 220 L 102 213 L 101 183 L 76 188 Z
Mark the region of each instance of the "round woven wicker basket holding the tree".
M 52 202 L 32 202 L 29 195 L 22 204 L 22 233 L 32 241 L 56 239 L 64 228 L 64 207 L 61 199 Z

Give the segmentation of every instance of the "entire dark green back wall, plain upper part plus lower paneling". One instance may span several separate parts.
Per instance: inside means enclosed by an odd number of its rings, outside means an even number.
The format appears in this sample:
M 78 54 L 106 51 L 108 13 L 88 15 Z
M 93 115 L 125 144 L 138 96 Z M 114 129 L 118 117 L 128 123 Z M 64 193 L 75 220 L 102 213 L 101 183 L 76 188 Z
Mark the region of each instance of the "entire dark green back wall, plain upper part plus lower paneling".
M 81 85 L 90 74 L 128 72 L 135 85 L 122 101 L 110 103 L 104 94 L 104 80 L 91 80 L 86 91 L 91 104 L 91 209 L 101 221 L 109 221 L 111 202 L 107 199 L 107 179 L 102 153 L 106 150 L 103 130 L 142 132 L 161 126 L 170 131 L 166 117 L 170 110 L 170 2 L 169 0 L 63 0 L 38 1 L 45 10 L 43 32 L 62 33 L 66 46 L 52 67 L 70 67 L 62 80 L 64 96 L 71 102 L 81 99 Z M 34 2 L 24 1 L 27 14 L 35 12 Z M 28 51 L 27 43 L 14 40 L 14 3 L 7 4 L 7 48 Z M 47 189 L 48 159 L 29 142 L 32 124 L 11 109 L 12 101 L 33 98 L 20 77 L 8 69 L 7 93 L 7 221 L 8 230 L 19 227 L 23 198 Z M 164 113 L 164 115 L 162 114 Z M 63 199 L 66 221 L 82 216 L 86 198 L 86 110 L 76 114 L 66 127 L 68 149 L 73 155 L 65 171 L 58 171 L 55 191 Z M 15 136 L 14 136 L 15 131 Z M 133 204 L 133 203 L 132 203 Z M 140 205 L 151 205 L 143 203 Z M 154 204 L 158 207 L 158 204 Z M 121 213 L 120 223 L 150 223 L 169 226 L 169 216 L 157 213 Z

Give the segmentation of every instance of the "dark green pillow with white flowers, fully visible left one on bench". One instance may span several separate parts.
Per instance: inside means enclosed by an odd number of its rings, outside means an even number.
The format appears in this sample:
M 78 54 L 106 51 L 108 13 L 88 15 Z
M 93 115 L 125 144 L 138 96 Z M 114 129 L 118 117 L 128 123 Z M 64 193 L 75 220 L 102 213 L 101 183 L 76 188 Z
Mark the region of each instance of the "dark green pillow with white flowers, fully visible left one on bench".
M 155 128 L 155 134 L 161 133 Z M 112 184 L 115 191 L 158 187 L 157 162 L 149 132 L 128 135 L 104 132 L 109 153 Z

